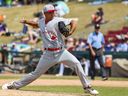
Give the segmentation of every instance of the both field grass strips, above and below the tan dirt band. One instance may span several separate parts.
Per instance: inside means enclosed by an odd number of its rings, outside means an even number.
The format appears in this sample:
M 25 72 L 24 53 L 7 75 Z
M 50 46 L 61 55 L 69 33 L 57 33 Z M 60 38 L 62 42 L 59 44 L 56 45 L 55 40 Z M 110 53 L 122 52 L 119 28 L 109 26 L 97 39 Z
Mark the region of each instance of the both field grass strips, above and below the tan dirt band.
M 20 79 L 24 75 L 0 75 L 0 79 Z M 77 76 L 63 76 L 56 77 L 53 75 L 43 75 L 40 79 L 78 79 Z M 101 80 L 100 77 L 96 77 L 96 80 Z M 128 81 L 128 78 L 109 78 L 110 81 Z M 128 96 L 128 87 L 101 87 L 94 86 L 100 92 L 98 96 Z M 25 86 L 20 90 L 23 91 L 35 91 L 35 92 L 51 92 L 51 93 L 66 93 L 66 94 L 80 94 L 80 96 L 84 96 L 84 91 L 81 86 Z

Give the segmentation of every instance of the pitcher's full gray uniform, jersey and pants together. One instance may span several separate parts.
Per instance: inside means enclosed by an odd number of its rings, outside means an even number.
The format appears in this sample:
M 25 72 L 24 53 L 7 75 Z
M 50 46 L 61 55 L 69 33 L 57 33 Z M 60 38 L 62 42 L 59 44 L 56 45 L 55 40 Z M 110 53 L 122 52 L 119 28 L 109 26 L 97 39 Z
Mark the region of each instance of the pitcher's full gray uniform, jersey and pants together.
M 66 25 L 70 24 L 71 22 L 71 20 L 69 19 L 55 17 L 53 18 L 53 20 L 45 24 L 45 20 L 42 18 L 39 20 L 39 27 L 42 32 L 41 34 L 44 48 L 63 48 L 59 51 L 44 50 L 43 55 L 41 56 L 36 69 L 33 72 L 26 75 L 21 80 L 15 81 L 15 88 L 21 88 L 31 83 L 39 76 L 41 76 L 43 73 L 45 73 L 50 67 L 61 62 L 63 62 L 63 64 L 66 64 L 71 69 L 76 71 L 77 75 L 81 80 L 83 88 L 88 87 L 90 85 L 90 82 L 86 79 L 86 75 L 83 71 L 80 62 L 76 59 L 75 56 L 73 56 L 64 48 L 64 41 L 62 39 L 61 33 L 58 30 L 59 21 L 64 21 Z

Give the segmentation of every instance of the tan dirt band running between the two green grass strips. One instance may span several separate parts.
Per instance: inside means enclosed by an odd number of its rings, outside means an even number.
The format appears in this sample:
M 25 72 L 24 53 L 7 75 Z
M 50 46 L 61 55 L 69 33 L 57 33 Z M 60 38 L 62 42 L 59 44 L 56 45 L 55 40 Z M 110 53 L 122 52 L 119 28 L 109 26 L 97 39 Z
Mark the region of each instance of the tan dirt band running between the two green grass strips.
M 4 83 L 8 83 L 15 80 L 0 80 L 0 86 Z M 72 83 L 71 83 L 72 82 Z M 123 82 L 123 83 L 122 83 Z M 94 80 L 91 81 L 93 86 L 106 86 L 106 87 L 128 87 L 128 81 L 101 81 L 101 80 Z M 30 84 L 31 86 L 82 86 L 80 80 L 50 80 L 50 79 L 37 79 Z

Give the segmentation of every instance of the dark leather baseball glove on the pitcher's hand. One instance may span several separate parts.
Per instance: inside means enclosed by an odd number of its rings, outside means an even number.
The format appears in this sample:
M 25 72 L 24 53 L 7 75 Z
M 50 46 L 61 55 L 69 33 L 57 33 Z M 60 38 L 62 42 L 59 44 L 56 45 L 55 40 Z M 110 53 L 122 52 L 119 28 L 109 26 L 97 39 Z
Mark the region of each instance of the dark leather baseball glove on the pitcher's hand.
M 65 37 L 69 36 L 69 29 L 63 21 L 58 22 L 58 28 L 60 30 L 60 33 L 63 34 Z

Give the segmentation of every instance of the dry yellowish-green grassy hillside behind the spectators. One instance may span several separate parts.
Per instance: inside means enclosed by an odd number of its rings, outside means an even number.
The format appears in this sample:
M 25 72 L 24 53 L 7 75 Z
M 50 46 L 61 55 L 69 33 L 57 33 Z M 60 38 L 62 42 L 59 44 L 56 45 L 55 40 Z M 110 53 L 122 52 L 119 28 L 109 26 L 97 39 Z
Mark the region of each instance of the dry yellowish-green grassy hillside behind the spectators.
M 79 18 L 78 27 L 76 33 L 73 37 L 76 38 L 87 38 L 87 35 L 93 31 L 92 27 L 84 28 L 85 24 L 90 22 L 90 16 L 93 14 L 98 7 L 103 7 L 105 12 L 105 20 L 109 20 L 109 23 L 102 25 L 101 31 L 106 34 L 108 30 L 117 30 L 121 29 L 122 26 L 128 25 L 128 22 L 124 19 L 124 16 L 128 14 L 128 7 L 124 6 L 121 3 L 108 3 L 100 6 L 90 6 L 86 3 L 76 3 L 69 2 L 70 14 L 67 14 L 65 17 L 68 18 Z M 23 6 L 19 8 L 0 8 L 1 14 L 7 16 L 5 22 L 10 29 L 10 31 L 19 32 L 22 29 L 22 24 L 19 23 L 20 19 L 33 18 L 33 13 L 40 11 L 43 8 L 43 5 L 38 6 Z M 9 43 L 13 37 L 0 37 L 0 44 Z

